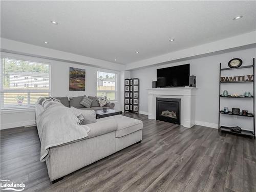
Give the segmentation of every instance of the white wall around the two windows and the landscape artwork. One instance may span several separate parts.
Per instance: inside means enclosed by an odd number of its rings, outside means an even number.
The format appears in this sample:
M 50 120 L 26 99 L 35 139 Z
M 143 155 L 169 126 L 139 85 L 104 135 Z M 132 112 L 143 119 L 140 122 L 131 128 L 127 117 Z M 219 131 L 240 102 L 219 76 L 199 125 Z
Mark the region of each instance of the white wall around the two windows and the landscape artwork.
M 113 70 L 100 69 L 96 67 L 77 65 L 69 62 L 61 62 L 56 60 L 42 59 L 37 57 L 16 55 L 1 52 L 2 57 L 11 57 L 16 59 L 24 59 L 37 62 L 48 62 L 51 65 L 51 96 L 53 97 L 75 97 L 75 96 L 95 96 L 97 94 L 97 70 L 117 73 L 118 87 L 120 89 L 120 72 Z M 86 91 L 69 91 L 69 67 L 80 68 L 86 70 Z M 115 103 L 115 109 L 119 110 L 120 94 L 117 95 L 118 102 Z M 1 129 L 11 127 L 27 126 L 35 124 L 34 110 L 19 110 L 17 112 L 1 112 Z

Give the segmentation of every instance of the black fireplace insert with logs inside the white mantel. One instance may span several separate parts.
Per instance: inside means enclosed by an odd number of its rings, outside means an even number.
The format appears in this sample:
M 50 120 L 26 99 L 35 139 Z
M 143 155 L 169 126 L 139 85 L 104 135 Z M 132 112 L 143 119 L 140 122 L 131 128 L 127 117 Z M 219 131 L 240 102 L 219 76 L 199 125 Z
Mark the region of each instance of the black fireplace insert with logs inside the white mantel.
M 180 99 L 157 98 L 156 119 L 180 124 Z

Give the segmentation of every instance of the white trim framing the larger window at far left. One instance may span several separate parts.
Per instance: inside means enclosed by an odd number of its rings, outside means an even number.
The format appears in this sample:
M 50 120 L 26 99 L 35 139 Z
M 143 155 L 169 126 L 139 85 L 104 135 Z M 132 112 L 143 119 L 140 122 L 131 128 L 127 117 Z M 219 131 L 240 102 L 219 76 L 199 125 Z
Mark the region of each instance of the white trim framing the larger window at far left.
M 2 54 L 2 52 L 1 52 Z M 51 95 L 51 88 L 52 88 L 52 81 L 51 81 L 51 63 L 49 61 L 45 61 L 45 60 L 37 60 L 38 58 L 31 58 L 31 57 L 27 57 L 24 55 L 21 55 L 20 57 L 16 56 L 15 54 L 2 54 L 0 59 L 0 94 L 3 92 L 15 92 L 15 93 L 24 93 L 24 90 L 4 90 L 3 89 L 3 65 L 2 65 L 2 60 L 3 58 L 10 58 L 10 59 L 15 59 L 15 60 L 25 60 L 25 61 L 29 61 L 29 62 L 39 62 L 39 63 L 45 63 L 47 65 L 49 65 L 49 90 L 44 91 L 44 90 L 30 90 L 30 93 L 49 93 L 49 95 Z M 18 112 L 29 112 L 29 111 L 35 111 L 35 106 L 24 106 L 24 107 L 18 107 L 18 108 L 10 108 L 10 109 L 2 109 L 1 108 L 1 104 L 2 102 L 0 102 L 0 114 L 7 114 L 7 113 L 18 113 Z

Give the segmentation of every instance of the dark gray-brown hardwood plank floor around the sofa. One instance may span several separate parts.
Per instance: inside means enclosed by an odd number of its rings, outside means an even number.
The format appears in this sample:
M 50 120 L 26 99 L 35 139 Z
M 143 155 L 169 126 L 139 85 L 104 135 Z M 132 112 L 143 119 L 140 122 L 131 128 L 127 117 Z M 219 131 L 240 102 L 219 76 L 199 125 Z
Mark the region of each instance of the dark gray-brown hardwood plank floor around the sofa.
M 1 131 L 1 179 L 27 191 L 256 191 L 256 142 L 195 125 L 144 122 L 143 140 L 51 184 L 36 127 Z M 68 155 L 68 154 L 67 154 Z M 65 168 L 65 167 L 63 167 Z

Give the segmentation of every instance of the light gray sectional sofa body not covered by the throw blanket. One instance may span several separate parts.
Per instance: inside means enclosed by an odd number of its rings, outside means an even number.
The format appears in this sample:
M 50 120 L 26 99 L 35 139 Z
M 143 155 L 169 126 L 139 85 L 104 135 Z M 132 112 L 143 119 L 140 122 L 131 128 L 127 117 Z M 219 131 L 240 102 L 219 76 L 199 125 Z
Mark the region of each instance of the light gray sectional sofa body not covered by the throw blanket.
M 58 99 L 65 106 L 78 106 L 75 105 L 77 98 L 70 98 L 70 101 L 67 97 Z M 113 104 L 109 105 L 112 109 Z M 93 106 L 91 109 L 97 110 L 98 107 Z M 36 119 L 43 111 L 42 105 L 36 103 Z M 96 121 L 84 125 L 90 127 L 88 137 L 49 148 L 50 155 L 46 159 L 46 165 L 48 175 L 53 183 L 75 170 L 142 140 L 143 122 L 141 120 L 115 115 Z

